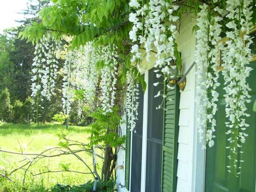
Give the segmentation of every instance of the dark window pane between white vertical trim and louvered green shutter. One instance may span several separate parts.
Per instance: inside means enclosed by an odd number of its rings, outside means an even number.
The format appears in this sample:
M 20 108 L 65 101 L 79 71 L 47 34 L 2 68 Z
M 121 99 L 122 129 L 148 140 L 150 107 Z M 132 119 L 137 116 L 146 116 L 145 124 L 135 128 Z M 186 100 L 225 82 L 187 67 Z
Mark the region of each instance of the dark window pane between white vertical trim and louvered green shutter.
M 160 192 L 162 168 L 162 137 L 163 137 L 163 109 L 156 110 L 163 97 L 154 98 L 158 91 L 163 90 L 163 84 L 154 86 L 155 82 L 163 82 L 156 78 L 155 69 L 148 73 L 148 124 L 147 124 L 147 165 L 146 191 Z M 162 92 L 163 93 L 163 92 Z

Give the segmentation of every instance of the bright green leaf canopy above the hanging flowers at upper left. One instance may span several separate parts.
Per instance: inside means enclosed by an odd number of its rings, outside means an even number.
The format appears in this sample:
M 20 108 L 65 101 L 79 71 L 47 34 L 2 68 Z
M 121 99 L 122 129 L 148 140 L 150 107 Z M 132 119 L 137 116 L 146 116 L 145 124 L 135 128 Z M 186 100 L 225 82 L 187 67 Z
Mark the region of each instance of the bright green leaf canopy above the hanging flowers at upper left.
M 88 41 L 117 40 L 122 43 L 129 39 L 131 25 L 127 22 L 128 0 L 86 1 L 55 0 L 52 6 L 39 12 L 42 23 L 32 23 L 20 34 L 28 41 L 37 42 L 48 31 L 52 36 L 73 36 L 72 48 L 78 48 Z M 118 34 L 121 36 L 112 38 Z M 125 37 L 125 39 L 123 39 Z

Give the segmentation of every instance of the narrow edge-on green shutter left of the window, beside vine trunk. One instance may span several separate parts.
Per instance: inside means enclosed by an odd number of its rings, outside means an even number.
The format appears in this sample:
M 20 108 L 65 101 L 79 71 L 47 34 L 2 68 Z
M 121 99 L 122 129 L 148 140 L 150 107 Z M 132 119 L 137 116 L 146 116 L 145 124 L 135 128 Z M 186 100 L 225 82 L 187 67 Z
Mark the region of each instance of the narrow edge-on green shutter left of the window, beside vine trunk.
M 126 121 L 127 122 L 127 121 Z M 129 190 L 130 184 L 130 148 L 131 148 L 131 132 L 130 126 L 126 126 L 126 142 L 125 142 L 125 187 Z

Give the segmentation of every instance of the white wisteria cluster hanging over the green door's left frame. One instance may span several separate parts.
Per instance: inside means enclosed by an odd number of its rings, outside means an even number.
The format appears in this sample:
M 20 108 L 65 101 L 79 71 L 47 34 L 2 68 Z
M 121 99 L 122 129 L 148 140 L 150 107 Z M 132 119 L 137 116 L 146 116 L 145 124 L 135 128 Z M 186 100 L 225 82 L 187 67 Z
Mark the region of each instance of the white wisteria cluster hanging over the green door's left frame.
M 214 145 L 213 138 L 216 137 L 213 135 L 216 127 L 214 115 L 217 111 L 216 102 L 218 101 L 216 88 L 220 86 L 217 66 L 219 65 L 218 53 L 223 46 L 222 43 L 217 44 L 217 42 L 221 40 L 221 24 L 219 22 L 222 18 L 220 16 L 210 17 L 212 10 L 206 4 L 201 5 L 200 8 L 199 18 L 197 18 L 199 30 L 196 32 L 197 45 L 195 52 L 198 82 L 196 87 L 197 128 L 199 139 L 201 141 L 205 139 L 204 147 L 207 144 L 212 147 Z M 216 7 L 214 11 L 221 14 L 223 10 Z

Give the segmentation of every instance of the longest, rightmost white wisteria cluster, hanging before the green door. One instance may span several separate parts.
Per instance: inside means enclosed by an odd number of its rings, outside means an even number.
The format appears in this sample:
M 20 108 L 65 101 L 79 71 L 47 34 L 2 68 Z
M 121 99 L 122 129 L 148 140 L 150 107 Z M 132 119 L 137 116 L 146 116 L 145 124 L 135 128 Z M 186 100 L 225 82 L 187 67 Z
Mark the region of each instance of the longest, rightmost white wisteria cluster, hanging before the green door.
M 238 153 L 242 153 L 241 147 L 245 143 L 245 137 L 247 136 L 246 127 L 249 124 L 245 122 L 245 118 L 249 116 L 247 114 L 246 103 L 250 102 L 249 91 L 251 90 L 246 82 L 246 78 L 249 77 L 250 71 L 249 62 L 252 59 L 251 50 L 249 48 L 252 40 L 249 36 L 249 30 L 252 23 L 249 22 L 251 15 L 253 14 L 252 7 L 250 6 L 251 0 L 228 0 L 226 1 L 229 19 L 226 27 L 229 31 L 226 32 L 226 36 L 229 38 L 226 41 L 226 47 L 223 50 L 222 60 L 223 68 L 222 74 L 225 80 L 224 90 L 226 94 L 226 127 L 228 131 L 229 145 L 226 147 L 232 151 L 232 155 L 228 158 L 232 160 L 234 169 L 229 168 L 229 172 L 234 172 L 236 175 L 240 174 L 241 168 L 238 160 Z M 245 32 L 245 34 L 242 34 Z M 246 42 L 246 45 L 244 45 Z M 234 170 L 234 171 L 233 171 Z

